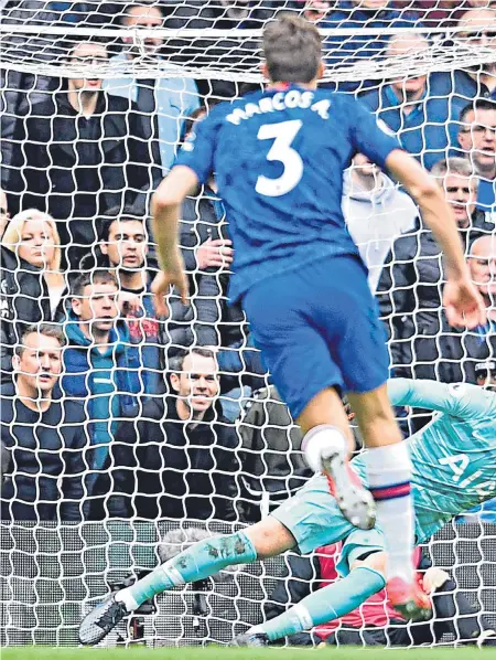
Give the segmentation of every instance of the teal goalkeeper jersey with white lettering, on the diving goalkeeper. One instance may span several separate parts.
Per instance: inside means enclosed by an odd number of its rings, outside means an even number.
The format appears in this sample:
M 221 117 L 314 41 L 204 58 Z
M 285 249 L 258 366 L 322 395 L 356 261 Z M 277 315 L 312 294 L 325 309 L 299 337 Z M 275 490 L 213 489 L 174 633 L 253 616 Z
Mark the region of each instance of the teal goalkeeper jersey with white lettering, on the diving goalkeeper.
M 476 385 L 388 381 L 393 405 L 440 414 L 409 438 L 417 541 L 496 497 L 496 393 Z M 353 466 L 366 482 L 365 456 Z

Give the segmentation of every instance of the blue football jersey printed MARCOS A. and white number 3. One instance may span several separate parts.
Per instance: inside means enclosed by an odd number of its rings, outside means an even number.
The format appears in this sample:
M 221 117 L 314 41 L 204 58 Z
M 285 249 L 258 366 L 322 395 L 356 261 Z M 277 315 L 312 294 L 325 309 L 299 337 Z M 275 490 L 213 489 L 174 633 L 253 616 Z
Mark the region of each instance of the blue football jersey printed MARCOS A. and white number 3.
M 201 183 L 215 172 L 234 243 L 229 297 L 332 255 L 356 255 L 341 209 L 343 171 L 357 152 L 379 167 L 400 148 L 345 94 L 289 85 L 213 108 L 175 164 Z

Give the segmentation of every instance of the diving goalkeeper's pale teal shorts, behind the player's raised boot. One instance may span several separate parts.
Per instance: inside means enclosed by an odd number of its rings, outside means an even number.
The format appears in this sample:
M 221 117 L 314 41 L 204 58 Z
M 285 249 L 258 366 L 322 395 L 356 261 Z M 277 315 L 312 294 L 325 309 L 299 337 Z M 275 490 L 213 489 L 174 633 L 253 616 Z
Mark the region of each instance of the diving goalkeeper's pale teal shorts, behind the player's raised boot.
M 377 525 L 373 530 L 358 530 L 344 518 L 328 491 L 327 479 L 322 475 L 311 479 L 271 515 L 291 532 L 302 554 L 344 541 L 336 564 L 343 576 L 349 573 L 349 565 L 364 553 L 386 550 L 384 534 Z

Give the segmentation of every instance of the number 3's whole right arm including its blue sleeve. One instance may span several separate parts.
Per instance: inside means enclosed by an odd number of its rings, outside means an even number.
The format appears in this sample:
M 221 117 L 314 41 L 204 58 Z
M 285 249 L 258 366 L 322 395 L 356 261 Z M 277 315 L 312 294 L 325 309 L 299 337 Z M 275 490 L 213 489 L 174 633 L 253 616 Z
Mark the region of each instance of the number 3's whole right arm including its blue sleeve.
M 454 215 L 440 187 L 412 156 L 399 148 L 396 139 L 377 126 L 370 113 L 359 103 L 357 106 L 352 131 L 356 149 L 405 185 L 443 252 L 448 276 L 443 305 L 449 323 L 467 328 L 485 324 L 485 306 L 471 279 Z

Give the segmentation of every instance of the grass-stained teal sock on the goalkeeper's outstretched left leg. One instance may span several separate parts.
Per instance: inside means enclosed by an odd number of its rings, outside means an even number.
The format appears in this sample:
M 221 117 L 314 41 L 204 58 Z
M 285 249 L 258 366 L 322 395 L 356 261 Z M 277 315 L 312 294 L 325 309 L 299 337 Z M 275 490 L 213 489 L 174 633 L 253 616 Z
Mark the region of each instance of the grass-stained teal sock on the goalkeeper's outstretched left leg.
M 132 586 L 118 592 L 116 599 L 122 600 L 128 611 L 132 611 L 166 589 L 204 579 L 226 566 L 249 564 L 256 558 L 257 552 L 242 532 L 205 539 L 168 560 Z

